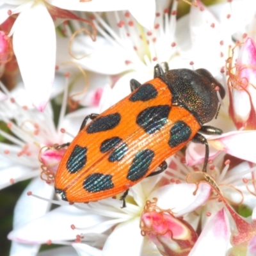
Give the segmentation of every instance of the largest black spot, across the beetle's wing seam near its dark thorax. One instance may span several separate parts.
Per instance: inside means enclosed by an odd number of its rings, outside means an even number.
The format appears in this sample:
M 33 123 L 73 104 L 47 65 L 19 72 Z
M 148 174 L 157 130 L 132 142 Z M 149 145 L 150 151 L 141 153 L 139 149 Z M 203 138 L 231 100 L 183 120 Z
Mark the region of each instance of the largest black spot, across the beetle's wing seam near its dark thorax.
M 148 134 L 159 131 L 167 122 L 171 107 L 168 105 L 146 108 L 138 115 L 136 123 Z

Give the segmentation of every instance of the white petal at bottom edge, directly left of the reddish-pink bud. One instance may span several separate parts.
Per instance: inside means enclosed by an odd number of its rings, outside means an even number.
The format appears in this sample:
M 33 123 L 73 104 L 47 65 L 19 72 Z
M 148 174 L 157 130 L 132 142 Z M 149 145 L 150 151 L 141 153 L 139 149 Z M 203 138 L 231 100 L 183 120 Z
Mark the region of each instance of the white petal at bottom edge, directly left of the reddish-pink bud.
M 139 217 L 119 224 L 104 244 L 102 256 L 140 256 L 144 239 L 140 231 Z

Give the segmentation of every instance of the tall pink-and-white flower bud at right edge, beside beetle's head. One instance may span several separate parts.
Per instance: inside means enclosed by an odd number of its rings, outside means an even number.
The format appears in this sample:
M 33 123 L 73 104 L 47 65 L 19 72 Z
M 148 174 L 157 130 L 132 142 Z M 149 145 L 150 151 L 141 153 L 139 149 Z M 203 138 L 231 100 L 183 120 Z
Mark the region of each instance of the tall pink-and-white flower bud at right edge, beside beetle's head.
M 235 67 L 228 59 L 229 112 L 237 129 L 256 129 L 256 44 L 247 38 Z M 236 70 L 233 70 L 236 68 Z M 233 74 L 235 73 L 235 74 Z

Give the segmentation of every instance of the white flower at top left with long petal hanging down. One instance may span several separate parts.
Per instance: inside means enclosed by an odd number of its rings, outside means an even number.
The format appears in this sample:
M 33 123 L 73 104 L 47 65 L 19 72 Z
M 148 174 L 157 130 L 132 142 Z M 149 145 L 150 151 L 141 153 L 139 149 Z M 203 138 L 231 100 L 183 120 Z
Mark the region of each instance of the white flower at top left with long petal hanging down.
M 145 0 L 138 1 L 2 1 L 0 24 L 10 15 L 19 13 L 13 24 L 13 51 L 17 57 L 20 73 L 33 105 L 44 111 L 50 98 L 56 65 L 56 33 L 52 19 L 77 19 L 67 10 L 108 11 L 131 10 L 143 26 L 152 26 L 155 1 L 147 1 L 148 15 L 139 15 Z M 140 7 L 138 7 L 140 4 Z M 58 8 L 58 6 L 60 8 Z M 83 19 L 78 19 L 83 20 Z M 86 20 L 83 20 L 87 22 Z M 90 23 L 90 22 L 89 22 Z M 95 31 L 94 31 L 95 32 Z M 93 32 L 93 33 L 94 33 Z M 94 38 L 95 35 L 92 35 Z

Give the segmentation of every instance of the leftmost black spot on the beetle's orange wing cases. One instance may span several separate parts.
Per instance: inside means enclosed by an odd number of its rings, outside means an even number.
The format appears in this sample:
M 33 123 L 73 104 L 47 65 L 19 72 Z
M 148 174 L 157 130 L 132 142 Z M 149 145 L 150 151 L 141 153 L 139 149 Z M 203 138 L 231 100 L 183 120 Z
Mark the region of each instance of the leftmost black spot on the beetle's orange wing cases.
M 77 173 L 84 167 L 87 160 L 86 153 L 86 147 L 80 147 L 79 145 L 74 147 L 67 161 L 68 172 Z

